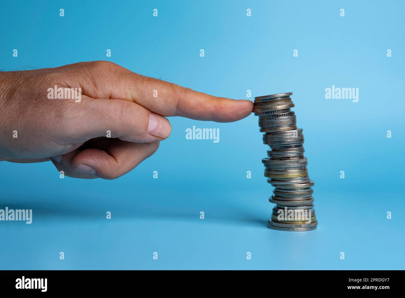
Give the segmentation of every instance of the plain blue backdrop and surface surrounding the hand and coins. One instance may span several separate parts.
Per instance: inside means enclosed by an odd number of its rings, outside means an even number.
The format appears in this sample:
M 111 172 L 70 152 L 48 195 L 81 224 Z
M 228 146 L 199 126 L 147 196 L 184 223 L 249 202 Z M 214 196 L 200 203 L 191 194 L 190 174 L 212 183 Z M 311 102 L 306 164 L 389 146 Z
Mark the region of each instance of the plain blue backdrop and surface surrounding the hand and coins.
M 319 225 L 267 228 L 256 116 L 175 117 L 158 152 L 117 180 L 1 162 L 0 208 L 33 209 L 33 223 L 0 222 L 0 269 L 405 269 L 404 11 L 403 1 L 2 2 L 2 69 L 110 60 L 217 96 L 294 92 Z M 325 99 L 332 85 L 359 88 L 358 103 Z M 219 128 L 220 142 L 185 139 L 193 125 Z

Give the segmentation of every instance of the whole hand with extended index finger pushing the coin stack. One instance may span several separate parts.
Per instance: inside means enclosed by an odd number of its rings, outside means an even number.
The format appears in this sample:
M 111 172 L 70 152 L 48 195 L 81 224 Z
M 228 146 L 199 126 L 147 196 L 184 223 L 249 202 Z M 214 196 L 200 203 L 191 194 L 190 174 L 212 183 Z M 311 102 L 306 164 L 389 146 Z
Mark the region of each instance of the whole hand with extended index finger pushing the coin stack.
M 76 97 L 67 88 L 77 88 Z M 58 93 L 65 99 L 50 99 Z M 66 176 L 115 179 L 170 135 L 163 116 L 232 122 L 252 108 L 251 101 L 196 92 L 106 61 L 0 72 L 0 160 L 51 160 Z

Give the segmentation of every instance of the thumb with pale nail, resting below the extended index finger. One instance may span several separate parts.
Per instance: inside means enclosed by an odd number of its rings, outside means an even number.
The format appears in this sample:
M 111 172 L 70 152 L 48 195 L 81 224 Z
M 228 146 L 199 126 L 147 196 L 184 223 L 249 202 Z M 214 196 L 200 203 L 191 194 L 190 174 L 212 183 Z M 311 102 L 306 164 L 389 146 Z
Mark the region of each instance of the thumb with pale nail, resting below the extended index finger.
M 84 143 L 96 137 L 150 143 L 166 139 L 170 122 L 144 107 L 119 99 L 82 99 L 80 109 L 68 112 L 64 121 L 64 142 Z

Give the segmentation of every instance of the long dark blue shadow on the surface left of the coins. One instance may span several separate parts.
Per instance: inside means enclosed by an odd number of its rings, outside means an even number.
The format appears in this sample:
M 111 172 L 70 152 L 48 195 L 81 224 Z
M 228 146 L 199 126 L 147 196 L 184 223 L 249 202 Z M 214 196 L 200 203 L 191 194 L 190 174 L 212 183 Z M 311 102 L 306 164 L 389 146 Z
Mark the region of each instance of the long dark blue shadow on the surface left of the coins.
M 93 202 L 92 202 L 93 203 Z M 89 203 L 90 205 L 90 203 Z M 176 208 L 168 210 L 165 206 L 143 206 L 143 204 L 119 204 L 114 208 L 103 206 L 83 206 L 79 204 L 61 204 L 60 202 L 19 202 L 0 201 L 0 209 L 8 207 L 9 210 L 32 209 L 32 221 L 54 223 L 56 221 L 101 221 L 106 219 L 106 212 L 111 211 L 111 216 L 118 220 L 160 220 L 160 221 L 187 221 L 196 223 L 200 221 L 199 210 L 190 206 L 185 210 Z M 163 207 L 163 208 L 162 208 Z M 215 206 L 206 208 L 205 223 L 220 223 L 238 226 L 267 228 L 267 217 L 263 212 L 246 210 L 243 206 Z M 226 210 L 226 211 L 224 211 Z M 223 212 L 224 211 L 224 212 Z M 263 215 L 260 217 L 260 215 Z

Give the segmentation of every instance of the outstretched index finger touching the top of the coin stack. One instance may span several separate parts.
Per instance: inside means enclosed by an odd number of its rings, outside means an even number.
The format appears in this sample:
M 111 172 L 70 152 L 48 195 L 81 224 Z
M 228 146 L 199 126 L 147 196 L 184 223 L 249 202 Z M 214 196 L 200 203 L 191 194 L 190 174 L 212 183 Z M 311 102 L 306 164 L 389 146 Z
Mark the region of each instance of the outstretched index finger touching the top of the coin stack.
M 253 110 L 252 101 L 193 91 L 139 75 L 112 62 L 80 62 L 62 66 L 61 69 L 66 69 L 70 84 L 74 82 L 82 87 L 84 95 L 133 101 L 162 116 L 232 122 L 245 118 Z M 82 75 L 77 76 L 78 73 Z

